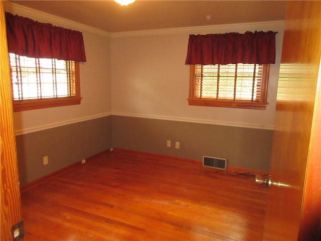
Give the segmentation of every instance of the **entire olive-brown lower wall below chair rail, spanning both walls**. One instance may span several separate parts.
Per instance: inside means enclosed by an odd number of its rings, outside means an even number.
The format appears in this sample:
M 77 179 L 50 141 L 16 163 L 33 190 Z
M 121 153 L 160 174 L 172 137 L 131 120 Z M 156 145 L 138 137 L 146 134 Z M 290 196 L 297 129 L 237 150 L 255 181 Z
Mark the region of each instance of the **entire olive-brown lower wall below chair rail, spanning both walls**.
M 58 171 L 110 147 L 202 160 L 268 172 L 271 130 L 161 119 L 105 116 L 16 137 L 20 185 Z M 167 140 L 172 147 L 167 147 Z M 180 149 L 175 148 L 180 142 Z M 43 165 L 48 156 L 49 164 Z

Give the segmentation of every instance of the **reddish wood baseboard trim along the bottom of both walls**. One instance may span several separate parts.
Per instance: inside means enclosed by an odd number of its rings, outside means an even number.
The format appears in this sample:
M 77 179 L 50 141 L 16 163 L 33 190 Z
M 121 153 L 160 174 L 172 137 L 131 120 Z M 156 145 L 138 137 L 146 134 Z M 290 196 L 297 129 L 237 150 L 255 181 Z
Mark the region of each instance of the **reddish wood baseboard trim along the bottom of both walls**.
M 112 151 L 111 151 L 112 150 Z M 142 156 L 142 157 L 148 157 L 148 158 L 164 158 L 164 159 L 169 159 L 169 160 L 173 160 L 173 161 L 180 161 L 180 162 L 186 162 L 186 163 L 193 163 L 195 165 L 202 165 L 201 161 L 197 161 L 197 160 L 192 160 L 192 159 L 187 159 L 187 158 L 180 158 L 180 157 L 171 157 L 171 156 L 166 156 L 166 155 L 161 155 L 161 154 L 154 154 L 154 153 L 147 153 L 147 152 L 140 152 L 140 151 L 133 151 L 133 150 L 128 150 L 128 149 L 122 149 L 122 148 L 112 148 L 112 149 L 108 149 L 105 150 L 103 152 L 97 153 L 91 157 L 88 157 L 86 159 L 86 161 L 90 161 L 91 159 L 95 159 L 97 156 L 103 154 L 103 153 L 108 153 L 108 152 L 116 152 L 116 153 L 123 153 L 123 154 L 128 154 L 128 155 L 135 155 L 135 156 Z M 24 192 L 27 191 L 30 188 L 33 188 L 35 186 L 38 186 L 39 184 L 46 182 L 56 176 L 59 176 L 77 166 L 81 165 L 81 161 L 76 162 L 74 164 L 71 164 L 67 167 L 64 167 L 58 171 L 55 171 L 53 173 L 50 173 L 46 176 L 43 176 L 41 178 L 38 178 L 34 181 L 31 181 L 23 186 L 20 187 L 20 192 Z M 217 169 L 218 170 L 218 169 Z M 220 170 L 221 171 L 221 170 Z M 224 170 L 222 170 L 224 171 Z M 253 173 L 256 175 L 267 175 L 267 172 L 263 172 L 263 171 L 259 171 L 259 170 L 251 170 L 251 169 L 246 169 L 246 168 L 241 168 L 241 167 L 233 167 L 233 166 L 227 166 L 227 169 L 225 172 L 238 172 L 238 173 Z

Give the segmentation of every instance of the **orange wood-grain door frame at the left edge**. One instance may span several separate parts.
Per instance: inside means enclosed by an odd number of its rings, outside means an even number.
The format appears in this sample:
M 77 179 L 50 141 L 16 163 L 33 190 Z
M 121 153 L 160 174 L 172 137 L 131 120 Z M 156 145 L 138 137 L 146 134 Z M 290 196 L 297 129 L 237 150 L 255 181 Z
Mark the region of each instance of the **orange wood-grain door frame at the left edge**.
M 22 220 L 22 214 L 3 1 L 0 6 L 1 240 L 12 240 L 11 228 Z

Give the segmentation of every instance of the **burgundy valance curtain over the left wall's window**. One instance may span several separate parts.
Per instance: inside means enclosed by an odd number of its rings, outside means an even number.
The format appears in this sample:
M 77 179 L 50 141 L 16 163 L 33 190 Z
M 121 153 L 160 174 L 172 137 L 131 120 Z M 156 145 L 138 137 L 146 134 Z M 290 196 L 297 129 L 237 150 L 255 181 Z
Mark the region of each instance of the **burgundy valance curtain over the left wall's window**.
M 9 53 L 86 62 L 81 32 L 6 13 Z

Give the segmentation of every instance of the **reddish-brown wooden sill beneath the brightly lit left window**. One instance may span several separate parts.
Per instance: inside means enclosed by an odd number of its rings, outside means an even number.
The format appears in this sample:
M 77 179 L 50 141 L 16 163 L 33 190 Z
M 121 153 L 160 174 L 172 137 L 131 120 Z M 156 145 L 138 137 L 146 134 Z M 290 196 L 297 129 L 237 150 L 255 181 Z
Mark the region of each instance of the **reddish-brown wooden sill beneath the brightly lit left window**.
M 16 100 L 14 101 L 14 112 L 50 108 L 64 105 L 80 104 L 82 97 L 62 97 L 62 98 L 48 98 L 48 99 L 30 99 L 30 100 Z

